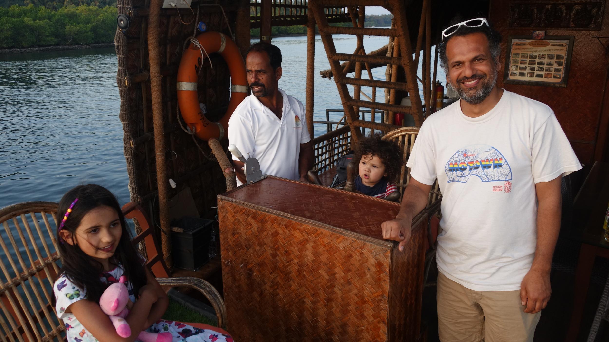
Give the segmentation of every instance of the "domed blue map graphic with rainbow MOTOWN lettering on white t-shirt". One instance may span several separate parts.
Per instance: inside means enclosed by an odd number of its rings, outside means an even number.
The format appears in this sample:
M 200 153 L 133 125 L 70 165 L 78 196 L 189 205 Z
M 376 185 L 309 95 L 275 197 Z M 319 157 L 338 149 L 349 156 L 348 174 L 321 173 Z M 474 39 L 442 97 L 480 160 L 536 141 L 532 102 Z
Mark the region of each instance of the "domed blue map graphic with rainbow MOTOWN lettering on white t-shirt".
M 512 169 L 498 149 L 489 145 L 470 145 L 459 149 L 445 167 L 448 183 L 466 183 L 471 176 L 482 182 L 512 180 Z

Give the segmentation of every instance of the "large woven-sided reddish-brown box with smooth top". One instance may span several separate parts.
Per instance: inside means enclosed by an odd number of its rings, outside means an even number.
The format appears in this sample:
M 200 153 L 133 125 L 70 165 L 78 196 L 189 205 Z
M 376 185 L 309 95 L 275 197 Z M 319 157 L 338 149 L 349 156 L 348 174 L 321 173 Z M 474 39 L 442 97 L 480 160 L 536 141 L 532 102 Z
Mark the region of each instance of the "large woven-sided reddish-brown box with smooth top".
M 400 205 L 268 177 L 218 196 L 236 341 L 416 341 L 427 216 L 404 252 L 382 239 Z

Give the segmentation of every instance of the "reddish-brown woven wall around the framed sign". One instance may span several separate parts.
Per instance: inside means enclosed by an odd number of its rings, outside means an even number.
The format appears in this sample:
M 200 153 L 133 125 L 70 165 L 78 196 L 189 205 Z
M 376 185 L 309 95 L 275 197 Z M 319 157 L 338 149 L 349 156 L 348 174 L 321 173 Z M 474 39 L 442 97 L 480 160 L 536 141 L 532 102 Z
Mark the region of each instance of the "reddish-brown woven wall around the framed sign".
M 537 29 L 510 27 L 510 8 L 519 1 L 498 0 L 491 2 L 490 21 L 503 36 L 499 75 L 503 75 L 507 36 L 531 35 Z M 560 2 L 557 2 L 560 4 Z M 534 5 L 534 4 L 533 4 Z M 607 58 L 605 48 L 593 36 L 609 35 L 609 16 L 602 17 L 599 31 L 571 29 L 546 30 L 546 36 L 575 36 L 569 81 L 566 87 L 543 87 L 519 84 L 504 84 L 502 77 L 498 86 L 516 92 L 533 100 L 549 105 L 555 112 L 560 125 L 569 138 L 582 163 L 591 163 L 597 142 L 599 115 L 601 112 L 605 81 L 607 78 Z M 604 114 L 607 115 L 607 114 Z

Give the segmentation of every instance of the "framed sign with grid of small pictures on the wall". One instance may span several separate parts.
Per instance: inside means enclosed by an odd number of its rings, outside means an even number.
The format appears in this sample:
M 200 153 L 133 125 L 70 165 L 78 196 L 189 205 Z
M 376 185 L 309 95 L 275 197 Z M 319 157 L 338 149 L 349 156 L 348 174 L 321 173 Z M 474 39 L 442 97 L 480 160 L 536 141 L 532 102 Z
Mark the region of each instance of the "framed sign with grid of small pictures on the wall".
M 509 36 L 504 83 L 566 87 L 574 36 Z

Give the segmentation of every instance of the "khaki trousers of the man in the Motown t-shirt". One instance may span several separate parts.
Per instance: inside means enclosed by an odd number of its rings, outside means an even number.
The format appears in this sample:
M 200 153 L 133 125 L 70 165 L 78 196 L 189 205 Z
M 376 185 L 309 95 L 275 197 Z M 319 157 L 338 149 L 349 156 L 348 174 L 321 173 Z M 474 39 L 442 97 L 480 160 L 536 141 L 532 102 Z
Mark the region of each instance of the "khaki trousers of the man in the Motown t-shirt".
M 442 273 L 437 306 L 442 342 L 532 342 L 541 316 L 524 312 L 520 290 L 473 291 Z

